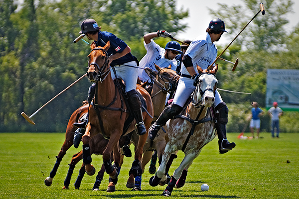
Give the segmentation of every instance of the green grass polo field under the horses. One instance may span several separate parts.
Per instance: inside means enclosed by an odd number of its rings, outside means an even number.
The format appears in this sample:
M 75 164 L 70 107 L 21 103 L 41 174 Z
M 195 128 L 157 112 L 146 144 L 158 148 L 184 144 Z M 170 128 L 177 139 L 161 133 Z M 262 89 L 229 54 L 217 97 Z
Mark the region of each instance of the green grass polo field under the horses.
M 245 134 L 250 136 L 249 133 Z M 206 145 L 188 171 L 186 184 L 174 189 L 173 199 L 299 199 L 299 133 L 281 133 L 280 138 L 271 138 L 270 133 L 261 133 L 264 138 L 237 139 L 238 133 L 229 133 L 230 141 L 237 146 L 226 154 L 219 154 L 217 138 Z M 62 190 L 68 163 L 74 153 L 81 150 L 71 147 L 63 158 L 51 187 L 44 185 L 49 176 L 55 156 L 64 141 L 64 133 L 0 133 L 0 199 L 158 199 L 164 187 L 150 187 L 148 166 L 143 175 L 143 191 L 126 188 L 128 172 L 133 158 L 125 158 L 119 176 L 117 191 L 107 193 L 108 175 L 97 192 L 91 191 L 94 176 L 84 176 L 80 190 L 73 184 L 77 178 L 80 161 L 73 174 L 70 189 Z M 131 147 L 132 149 L 132 147 Z M 102 156 L 93 155 L 97 171 Z M 169 174 L 183 158 L 179 152 Z M 289 160 L 290 163 L 287 163 Z M 149 165 L 149 164 L 148 164 Z M 200 186 L 210 189 L 202 192 Z

